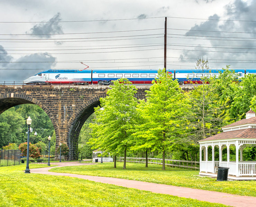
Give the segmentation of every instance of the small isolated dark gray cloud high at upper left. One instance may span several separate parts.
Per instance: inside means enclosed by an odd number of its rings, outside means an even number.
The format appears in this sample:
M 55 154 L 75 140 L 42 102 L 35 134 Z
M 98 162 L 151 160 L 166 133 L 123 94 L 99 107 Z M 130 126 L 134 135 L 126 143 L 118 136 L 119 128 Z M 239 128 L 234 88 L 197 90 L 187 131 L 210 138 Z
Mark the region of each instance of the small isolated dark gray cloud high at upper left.
M 39 38 L 51 38 L 52 34 L 63 33 L 62 27 L 59 22 L 61 14 L 57 13 L 53 18 L 51 18 L 47 23 L 38 23 L 33 28 L 30 29 L 27 34 L 45 34 L 45 35 L 34 35 Z

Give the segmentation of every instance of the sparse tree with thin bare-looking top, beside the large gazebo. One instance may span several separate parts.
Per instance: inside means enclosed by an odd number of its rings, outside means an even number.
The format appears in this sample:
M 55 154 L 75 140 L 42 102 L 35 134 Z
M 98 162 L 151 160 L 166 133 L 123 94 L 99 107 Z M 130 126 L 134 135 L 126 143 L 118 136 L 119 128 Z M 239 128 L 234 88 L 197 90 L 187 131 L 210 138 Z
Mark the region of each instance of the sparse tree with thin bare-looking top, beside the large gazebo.
M 202 74 L 210 72 L 208 60 L 199 59 L 196 69 Z M 227 110 L 231 104 L 231 92 L 228 91 L 231 89 L 225 85 L 232 84 L 234 79 L 227 73 L 227 70 L 224 71 L 219 79 L 202 77 L 202 84 L 186 93 L 186 102 L 190 109 L 186 119 L 190 133 L 185 136 L 184 141 L 197 144 L 200 139 L 217 134 L 230 121 Z

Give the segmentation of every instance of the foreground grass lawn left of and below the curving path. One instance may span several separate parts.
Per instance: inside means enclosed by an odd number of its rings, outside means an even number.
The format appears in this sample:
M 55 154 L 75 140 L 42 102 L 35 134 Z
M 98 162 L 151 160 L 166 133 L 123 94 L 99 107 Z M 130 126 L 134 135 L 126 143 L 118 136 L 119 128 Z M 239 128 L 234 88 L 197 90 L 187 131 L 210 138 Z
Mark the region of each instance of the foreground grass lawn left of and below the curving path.
M 47 165 L 30 165 L 30 168 L 37 167 Z M 79 178 L 25 174 L 22 171 L 25 168 L 25 164 L 0 167 L 0 207 L 225 206 Z

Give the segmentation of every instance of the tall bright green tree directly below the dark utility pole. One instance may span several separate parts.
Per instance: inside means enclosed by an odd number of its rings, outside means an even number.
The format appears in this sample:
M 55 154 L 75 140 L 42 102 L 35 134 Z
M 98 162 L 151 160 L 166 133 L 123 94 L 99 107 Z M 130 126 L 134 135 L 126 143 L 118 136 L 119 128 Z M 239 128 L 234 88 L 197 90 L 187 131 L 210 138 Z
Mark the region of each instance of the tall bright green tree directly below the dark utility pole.
M 165 170 L 165 152 L 183 132 L 185 107 L 178 81 L 172 80 L 164 69 L 158 71 L 158 78 L 152 83 L 150 90 L 146 91 L 146 102 L 142 101 L 138 106 L 145 120 L 136 126 L 135 136 L 145 139 L 141 146 L 162 152 L 162 169 Z

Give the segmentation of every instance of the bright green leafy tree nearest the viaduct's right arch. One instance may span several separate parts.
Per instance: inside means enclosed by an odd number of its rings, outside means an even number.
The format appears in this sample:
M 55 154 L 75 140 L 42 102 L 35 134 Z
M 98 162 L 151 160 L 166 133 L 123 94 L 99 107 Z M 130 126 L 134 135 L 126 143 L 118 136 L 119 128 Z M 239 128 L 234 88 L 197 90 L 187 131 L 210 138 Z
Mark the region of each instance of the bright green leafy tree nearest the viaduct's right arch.
M 136 124 L 137 89 L 127 79 L 113 81 L 107 97 L 100 99 L 101 107 L 95 108 L 95 123 L 90 124 L 92 138 L 89 140 L 94 149 L 111 152 L 116 167 L 116 155 L 126 152 L 132 146 L 130 129 Z

